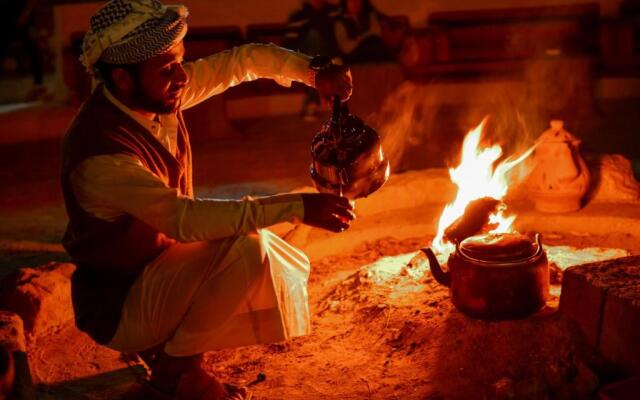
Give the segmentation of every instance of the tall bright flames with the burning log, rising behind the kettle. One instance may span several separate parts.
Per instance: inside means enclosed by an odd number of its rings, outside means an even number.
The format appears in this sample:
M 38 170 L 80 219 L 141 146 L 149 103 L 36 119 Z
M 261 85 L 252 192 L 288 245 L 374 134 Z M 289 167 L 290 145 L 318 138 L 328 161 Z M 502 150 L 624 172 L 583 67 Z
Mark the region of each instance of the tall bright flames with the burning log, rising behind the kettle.
M 455 241 L 478 233 L 483 227 L 488 233 L 514 232 L 512 225 L 516 216 L 507 214 L 502 199 L 509 189 L 510 171 L 531 155 L 534 147 L 517 158 L 507 157 L 494 165 L 502 156 L 502 148 L 498 144 L 480 147 L 486 122 L 487 117 L 467 134 L 460 164 L 449 169 L 458 193 L 444 208 L 432 243 L 432 248 L 445 256 L 455 251 Z

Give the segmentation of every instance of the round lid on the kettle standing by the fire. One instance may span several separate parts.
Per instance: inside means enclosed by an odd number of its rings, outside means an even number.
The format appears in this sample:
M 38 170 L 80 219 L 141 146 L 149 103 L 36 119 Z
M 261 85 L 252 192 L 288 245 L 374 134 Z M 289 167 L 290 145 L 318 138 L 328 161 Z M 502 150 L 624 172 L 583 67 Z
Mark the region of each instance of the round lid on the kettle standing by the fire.
M 537 244 L 520 233 L 471 236 L 460 243 L 462 255 L 479 261 L 513 262 L 533 256 Z

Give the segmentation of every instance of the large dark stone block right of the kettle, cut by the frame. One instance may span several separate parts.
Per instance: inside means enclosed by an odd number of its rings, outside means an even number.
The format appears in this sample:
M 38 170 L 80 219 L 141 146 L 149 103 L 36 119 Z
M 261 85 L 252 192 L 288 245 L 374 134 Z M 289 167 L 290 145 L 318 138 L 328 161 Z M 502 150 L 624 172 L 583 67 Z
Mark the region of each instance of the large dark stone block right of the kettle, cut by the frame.
M 640 373 L 640 256 L 567 269 L 560 312 L 580 325 L 605 358 Z

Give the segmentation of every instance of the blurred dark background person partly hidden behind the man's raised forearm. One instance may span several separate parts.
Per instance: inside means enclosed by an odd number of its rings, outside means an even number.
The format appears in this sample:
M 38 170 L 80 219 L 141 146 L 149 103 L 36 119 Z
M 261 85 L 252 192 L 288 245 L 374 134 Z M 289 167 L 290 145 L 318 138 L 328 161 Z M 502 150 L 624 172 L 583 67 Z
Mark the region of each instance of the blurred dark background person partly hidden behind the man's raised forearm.
M 333 21 L 337 16 L 337 5 L 326 0 L 305 0 L 302 8 L 289 17 L 284 46 L 311 56 L 335 56 L 338 51 Z M 302 117 L 314 121 L 319 109 L 318 92 L 309 88 L 302 105 Z

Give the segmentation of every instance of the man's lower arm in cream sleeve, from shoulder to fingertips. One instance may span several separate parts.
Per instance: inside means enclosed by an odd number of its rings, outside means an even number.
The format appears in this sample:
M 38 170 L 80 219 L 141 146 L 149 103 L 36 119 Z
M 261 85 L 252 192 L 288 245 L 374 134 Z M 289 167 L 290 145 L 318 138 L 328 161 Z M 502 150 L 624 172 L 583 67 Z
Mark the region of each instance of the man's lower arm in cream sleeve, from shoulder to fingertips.
M 280 222 L 303 222 L 340 232 L 354 218 L 345 198 L 282 194 L 256 199 L 192 199 L 169 188 L 135 157 L 96 156 L 74 171 L 71 185 L 90 214 L 115 220 L 130 214 L 176 240 L 215 240 Z

